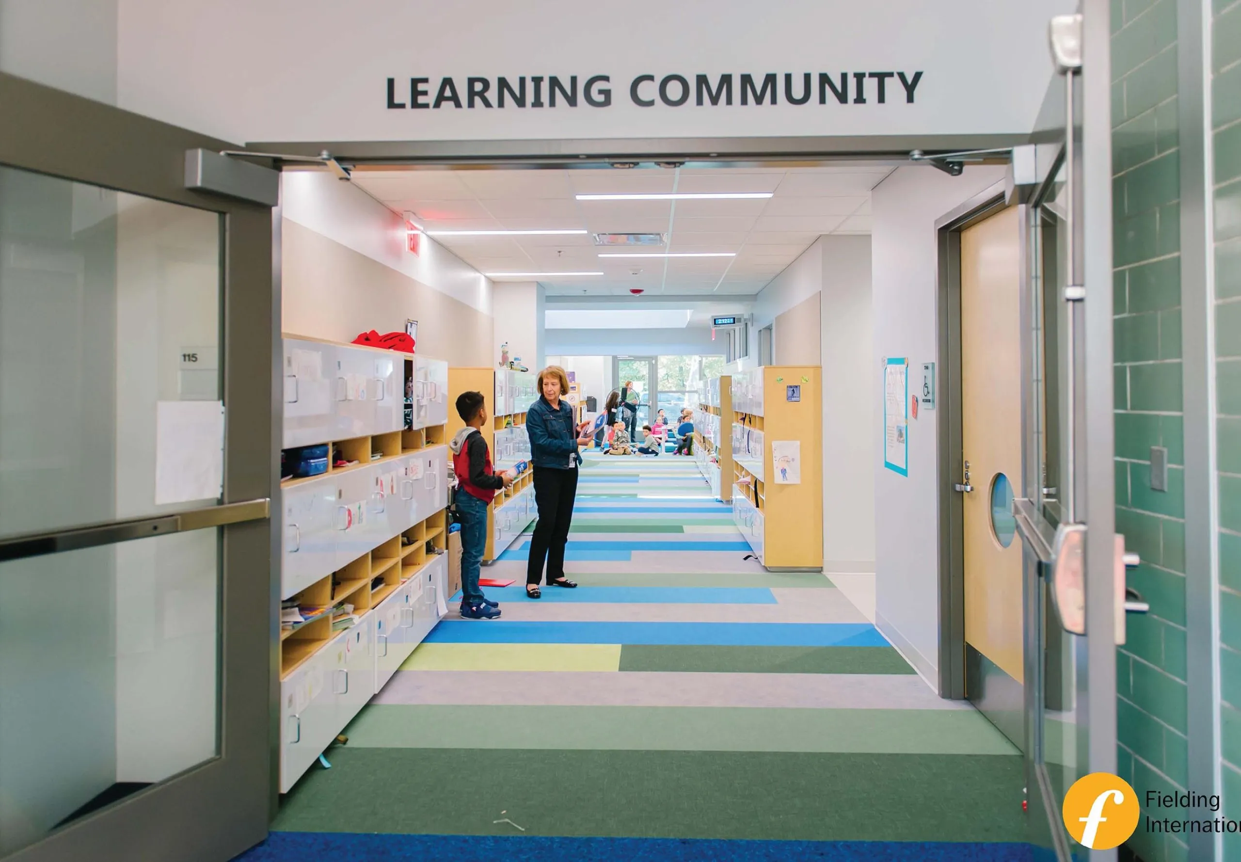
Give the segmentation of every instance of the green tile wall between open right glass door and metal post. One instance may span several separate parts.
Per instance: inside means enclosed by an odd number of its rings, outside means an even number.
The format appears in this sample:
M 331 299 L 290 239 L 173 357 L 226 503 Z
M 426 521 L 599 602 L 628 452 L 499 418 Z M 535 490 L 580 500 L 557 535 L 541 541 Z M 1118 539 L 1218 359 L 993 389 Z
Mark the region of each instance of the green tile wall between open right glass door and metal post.
M 1175 0 L 1113 0 L 1116 528 L 1150 602 L 1117 650 L 1117 755 L 1139 799 L 1188 781 L 1178 145 Z M 1150 490 L 1150 447 L 1168 449 L 1167 491 Z M 1144 830 L 1129 846 L 1147 862 L 1186 855 Z

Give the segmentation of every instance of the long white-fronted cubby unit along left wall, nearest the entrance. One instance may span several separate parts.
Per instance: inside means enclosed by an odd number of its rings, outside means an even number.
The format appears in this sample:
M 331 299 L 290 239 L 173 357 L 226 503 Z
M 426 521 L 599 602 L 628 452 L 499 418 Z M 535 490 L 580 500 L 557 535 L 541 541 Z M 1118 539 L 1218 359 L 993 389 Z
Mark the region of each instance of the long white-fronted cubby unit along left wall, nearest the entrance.
M 283 350 L 282 463 L 314 447 L 326 469 L 279 487 L 282 793 L 431 633 L 448 584 L 447 362 L 302 336 Z

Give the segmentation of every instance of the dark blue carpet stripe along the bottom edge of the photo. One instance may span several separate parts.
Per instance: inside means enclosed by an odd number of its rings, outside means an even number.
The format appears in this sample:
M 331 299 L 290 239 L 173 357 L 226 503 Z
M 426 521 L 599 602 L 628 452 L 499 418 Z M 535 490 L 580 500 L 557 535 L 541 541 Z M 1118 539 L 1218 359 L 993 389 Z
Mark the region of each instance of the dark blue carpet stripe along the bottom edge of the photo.
M 1030 862 L 1023 843 L 272 832 L 246 862 Z

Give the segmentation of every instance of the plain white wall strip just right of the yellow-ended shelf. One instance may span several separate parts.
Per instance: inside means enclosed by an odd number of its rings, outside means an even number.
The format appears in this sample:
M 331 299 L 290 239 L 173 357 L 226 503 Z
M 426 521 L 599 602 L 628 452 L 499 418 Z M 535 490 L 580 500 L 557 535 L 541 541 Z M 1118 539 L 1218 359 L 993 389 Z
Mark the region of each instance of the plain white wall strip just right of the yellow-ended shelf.
M 823 237 L 823 568 L 875 571 L 871 239 Z

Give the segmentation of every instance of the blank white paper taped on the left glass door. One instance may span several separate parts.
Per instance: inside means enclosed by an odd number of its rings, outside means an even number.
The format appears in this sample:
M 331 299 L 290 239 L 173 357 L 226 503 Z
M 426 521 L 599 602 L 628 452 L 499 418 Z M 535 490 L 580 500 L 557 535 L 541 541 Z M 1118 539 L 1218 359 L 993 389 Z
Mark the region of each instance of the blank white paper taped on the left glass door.
M 155 505 L 217 500 L 225 482 L 225 406 L 161 401 L 155 406 Z

